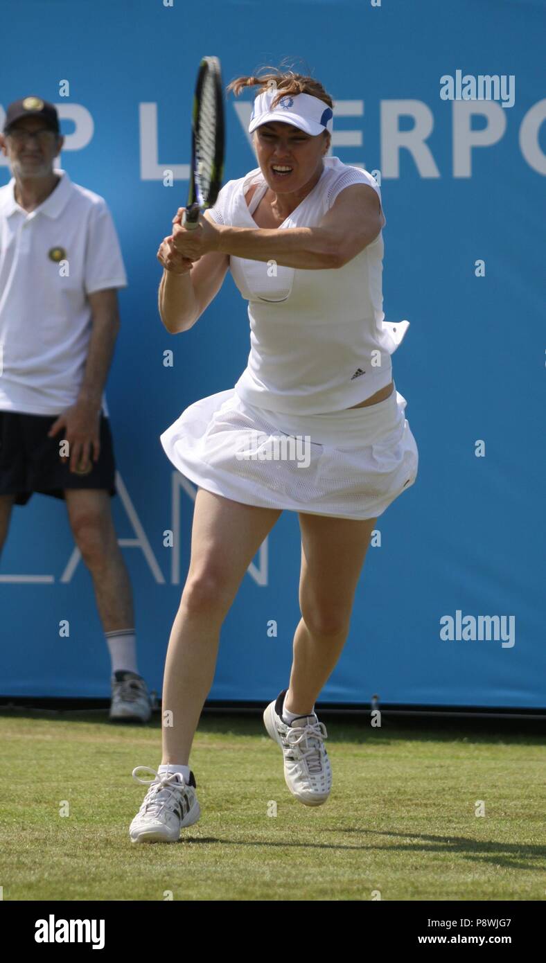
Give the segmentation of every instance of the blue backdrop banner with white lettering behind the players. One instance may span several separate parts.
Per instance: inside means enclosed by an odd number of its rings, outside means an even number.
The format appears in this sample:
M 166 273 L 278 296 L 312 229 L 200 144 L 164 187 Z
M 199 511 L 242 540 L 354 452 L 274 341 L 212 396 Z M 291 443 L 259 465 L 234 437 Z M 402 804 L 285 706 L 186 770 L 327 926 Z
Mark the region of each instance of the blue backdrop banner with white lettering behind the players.
M 195 497 L 159 435 L 188 404 L 233 385 L 248 351 L 246 304 L 229 275 L 191 331 L 169 336 L 157 312 L 156 251 L 187 195 L 195 70 L 215 54 L 227 84 L 288 55 L 336 102 L 332 153 L 380 174 L 385 316 L 410 322 L 393 367 L 420 450 L 415 485 L 378 519 L 380 544 L 369 550 L 351 635 L 322 699 L 544 707 L 545 4 L 207 7 L 206 27 L 181 0 L 2 7 L 0 121 L 29 93 L 57 104 L 61 166 L 106 198 L 127 267 L 107 397 L 141 671 L 161 689 Z M 440 78 L 455 82 L 457 70 L 513 77 L 513 105 L 442 99 Z M 251 101 L 251 92 L 227 98 L 226 179 L 256 166 Z M 9 177 L 3 166 L 0 183 Z M 164 547 L 169 529 L 174 548 Z M 64 503 L 35 495 L 13 509 L 0 575 L 0 693 L 109 694 L 91 577 Z M 298 518 L 285 512 L 224 624 L 210 698 L 269 700 L 287 685 L 298 580 Z M 467 616 L 492 616 L 491 638 L 473 638 Z

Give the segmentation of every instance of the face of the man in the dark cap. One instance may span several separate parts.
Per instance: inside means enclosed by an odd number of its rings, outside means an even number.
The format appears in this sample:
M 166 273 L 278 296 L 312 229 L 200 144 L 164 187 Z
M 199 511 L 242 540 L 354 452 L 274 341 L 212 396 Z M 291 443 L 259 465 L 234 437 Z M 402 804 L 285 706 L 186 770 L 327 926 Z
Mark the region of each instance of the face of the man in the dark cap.
M 29 137 L 28 132 L 36 134 Z M 46 177 L 53 170 L 64 138 L 45 129 L 39 117 L 23 117 L 3 136 L 13 175 L 19 178 Z

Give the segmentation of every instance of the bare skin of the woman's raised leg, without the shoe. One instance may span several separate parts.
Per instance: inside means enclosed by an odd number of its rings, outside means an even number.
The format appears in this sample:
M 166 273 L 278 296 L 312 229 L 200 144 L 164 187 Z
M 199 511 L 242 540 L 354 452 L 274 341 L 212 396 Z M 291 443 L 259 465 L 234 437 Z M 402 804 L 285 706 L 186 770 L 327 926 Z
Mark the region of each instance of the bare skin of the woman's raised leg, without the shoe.
M 299 514 L 301 619 L 285 709 L 312 712 L 349 634 L 354 591 L 377 518 L 352 521 Z

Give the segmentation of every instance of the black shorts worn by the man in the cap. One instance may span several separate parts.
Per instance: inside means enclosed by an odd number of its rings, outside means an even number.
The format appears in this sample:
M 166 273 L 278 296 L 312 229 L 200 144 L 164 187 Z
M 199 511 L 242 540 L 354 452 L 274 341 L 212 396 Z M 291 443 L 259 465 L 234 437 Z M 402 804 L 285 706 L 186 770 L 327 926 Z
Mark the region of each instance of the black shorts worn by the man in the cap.
M 109 419 L 100 414 L 100 449 L 88 475 L 76 475 L 69 461 L 61 461 L 63 432 L 47 432 L 58 415 L 29 415 L 0 411 L 0 495 L 14 495 L 15 505 L 26 505 L 33 492 L 65 498 L 65 488 L 107 488 L 116 495 L 116 462 Z

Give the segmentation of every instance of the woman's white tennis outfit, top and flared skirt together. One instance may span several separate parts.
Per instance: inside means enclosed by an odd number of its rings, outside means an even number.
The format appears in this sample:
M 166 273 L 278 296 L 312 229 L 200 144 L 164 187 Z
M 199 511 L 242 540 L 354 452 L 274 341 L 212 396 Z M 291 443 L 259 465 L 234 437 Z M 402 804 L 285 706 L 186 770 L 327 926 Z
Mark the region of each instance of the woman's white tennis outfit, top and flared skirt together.
M 316 226 L 351 184 L 369 184 L 380 201 L 368 171 L 326 157 L 320 180 L 278 229 Z M 255 229 L 252 212 L 267 189 L 253 169 L 224 185 L 211 215 Z M 352 407 L 393 379 L 391 354 L 409 326 L 384 322 L 382 258 L 382 231 L 339 269 L 230 256 L 248 301 L 247 368 L 161 435 L 184 476 L 245 505 L 354 520 L 377 517 L 414 483 L 418 449 L 396 384 L 384 401 Z

